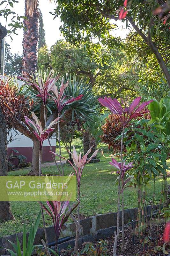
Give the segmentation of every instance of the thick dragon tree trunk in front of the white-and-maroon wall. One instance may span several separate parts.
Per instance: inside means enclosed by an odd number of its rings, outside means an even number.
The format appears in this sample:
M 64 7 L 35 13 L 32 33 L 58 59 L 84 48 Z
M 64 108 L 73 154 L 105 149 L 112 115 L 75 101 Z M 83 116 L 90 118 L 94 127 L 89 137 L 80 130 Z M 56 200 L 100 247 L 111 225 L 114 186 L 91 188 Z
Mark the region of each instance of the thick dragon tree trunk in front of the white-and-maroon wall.
M 40 152 L 40 142 L 39 142 L 39 140 L 34 140 L 32 169 L 31 169 L 31 172 L 28 173 L 29 176 L 38 176 L 39 175 L 39 152 Z

